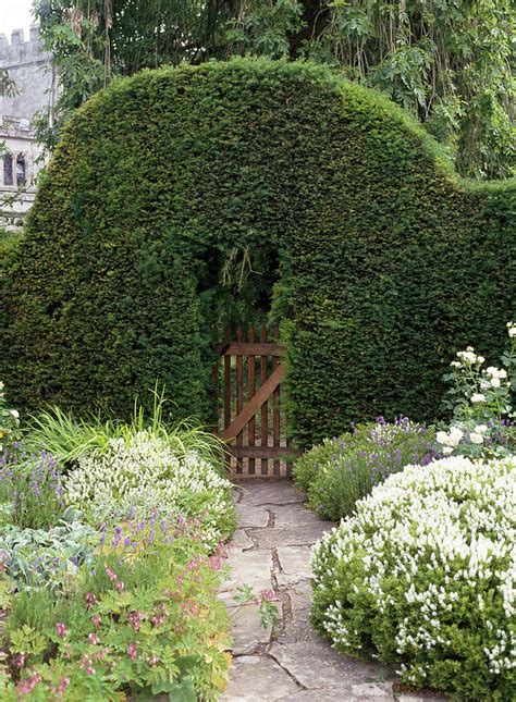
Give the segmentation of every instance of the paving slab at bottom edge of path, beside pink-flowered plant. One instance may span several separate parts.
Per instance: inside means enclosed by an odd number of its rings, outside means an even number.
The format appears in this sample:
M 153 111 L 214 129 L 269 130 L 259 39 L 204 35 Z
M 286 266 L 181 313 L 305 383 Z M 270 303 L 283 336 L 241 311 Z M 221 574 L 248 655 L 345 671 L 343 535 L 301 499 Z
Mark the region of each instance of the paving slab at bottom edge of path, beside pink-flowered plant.
M 234 658 L 222 702 L 269 702 L 293 694 L 299 687 L 267 655 Z

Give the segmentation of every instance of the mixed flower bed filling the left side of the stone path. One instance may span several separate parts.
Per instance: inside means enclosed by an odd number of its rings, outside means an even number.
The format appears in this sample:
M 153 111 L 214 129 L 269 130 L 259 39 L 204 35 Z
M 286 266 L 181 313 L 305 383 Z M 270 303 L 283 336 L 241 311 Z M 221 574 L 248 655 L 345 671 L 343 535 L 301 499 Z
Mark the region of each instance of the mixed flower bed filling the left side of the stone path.
M 231 642 L 216 595 L 235 525 L 220 443 L 168 424 L 162 399 L 131 424 L 54 408 L 7 438 L 2 700 L 217 699 Z

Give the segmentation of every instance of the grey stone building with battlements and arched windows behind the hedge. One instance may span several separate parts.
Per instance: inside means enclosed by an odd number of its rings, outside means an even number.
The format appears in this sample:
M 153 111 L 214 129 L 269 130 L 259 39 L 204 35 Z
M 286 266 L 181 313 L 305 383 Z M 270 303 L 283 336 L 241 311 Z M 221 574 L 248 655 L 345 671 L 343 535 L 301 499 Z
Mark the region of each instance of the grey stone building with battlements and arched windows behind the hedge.
M 36 192 L 41 149 L 34 138 L 34 118 L 52 107 L 56 72 L 50 54 L 41 46 L 39 29 L 30 27 L 28 40 L 23 29 L 0 34 L 0 67 L 7 69 L 16 95 L 0 96 L 0 223 L 17 224 L 28 210 Z

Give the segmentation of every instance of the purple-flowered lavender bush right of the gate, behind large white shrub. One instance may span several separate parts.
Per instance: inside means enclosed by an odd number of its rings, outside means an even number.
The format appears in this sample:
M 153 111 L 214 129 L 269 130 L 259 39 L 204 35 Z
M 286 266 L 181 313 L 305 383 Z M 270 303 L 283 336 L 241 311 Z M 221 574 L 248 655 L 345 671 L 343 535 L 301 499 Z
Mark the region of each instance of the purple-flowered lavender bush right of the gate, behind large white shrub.
M 315 446 L 296 461 L 294 480 L 306 490 L 309 506 L 320 517 L 336 521 L 404 466 L 427 465 L 434 457 L 433 439 L 422 424 L 406 418 L 386 423 L 380 417 L 377 423 Z

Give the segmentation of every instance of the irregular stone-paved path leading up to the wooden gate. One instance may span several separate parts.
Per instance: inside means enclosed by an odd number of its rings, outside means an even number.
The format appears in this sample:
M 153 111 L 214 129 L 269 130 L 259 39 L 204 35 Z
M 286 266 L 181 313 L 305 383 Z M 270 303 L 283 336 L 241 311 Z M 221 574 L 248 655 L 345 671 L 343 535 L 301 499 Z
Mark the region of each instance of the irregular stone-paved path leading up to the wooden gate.
M 220 593 L 235 639 L 223 702 L 443 699 L 394 695 L 392 672 L 337 654 L 311 629 L 310 546 L 332 525 L 304 506 L 302 492 L 286 481 L 253 481 L 235 488 L 235 500 L 238 530 L 229 558 L 231 579 Z M 275 592 L 280 619 L 273 630 L 260 626 L 256 605 L 235 605 L 241 584 Z

